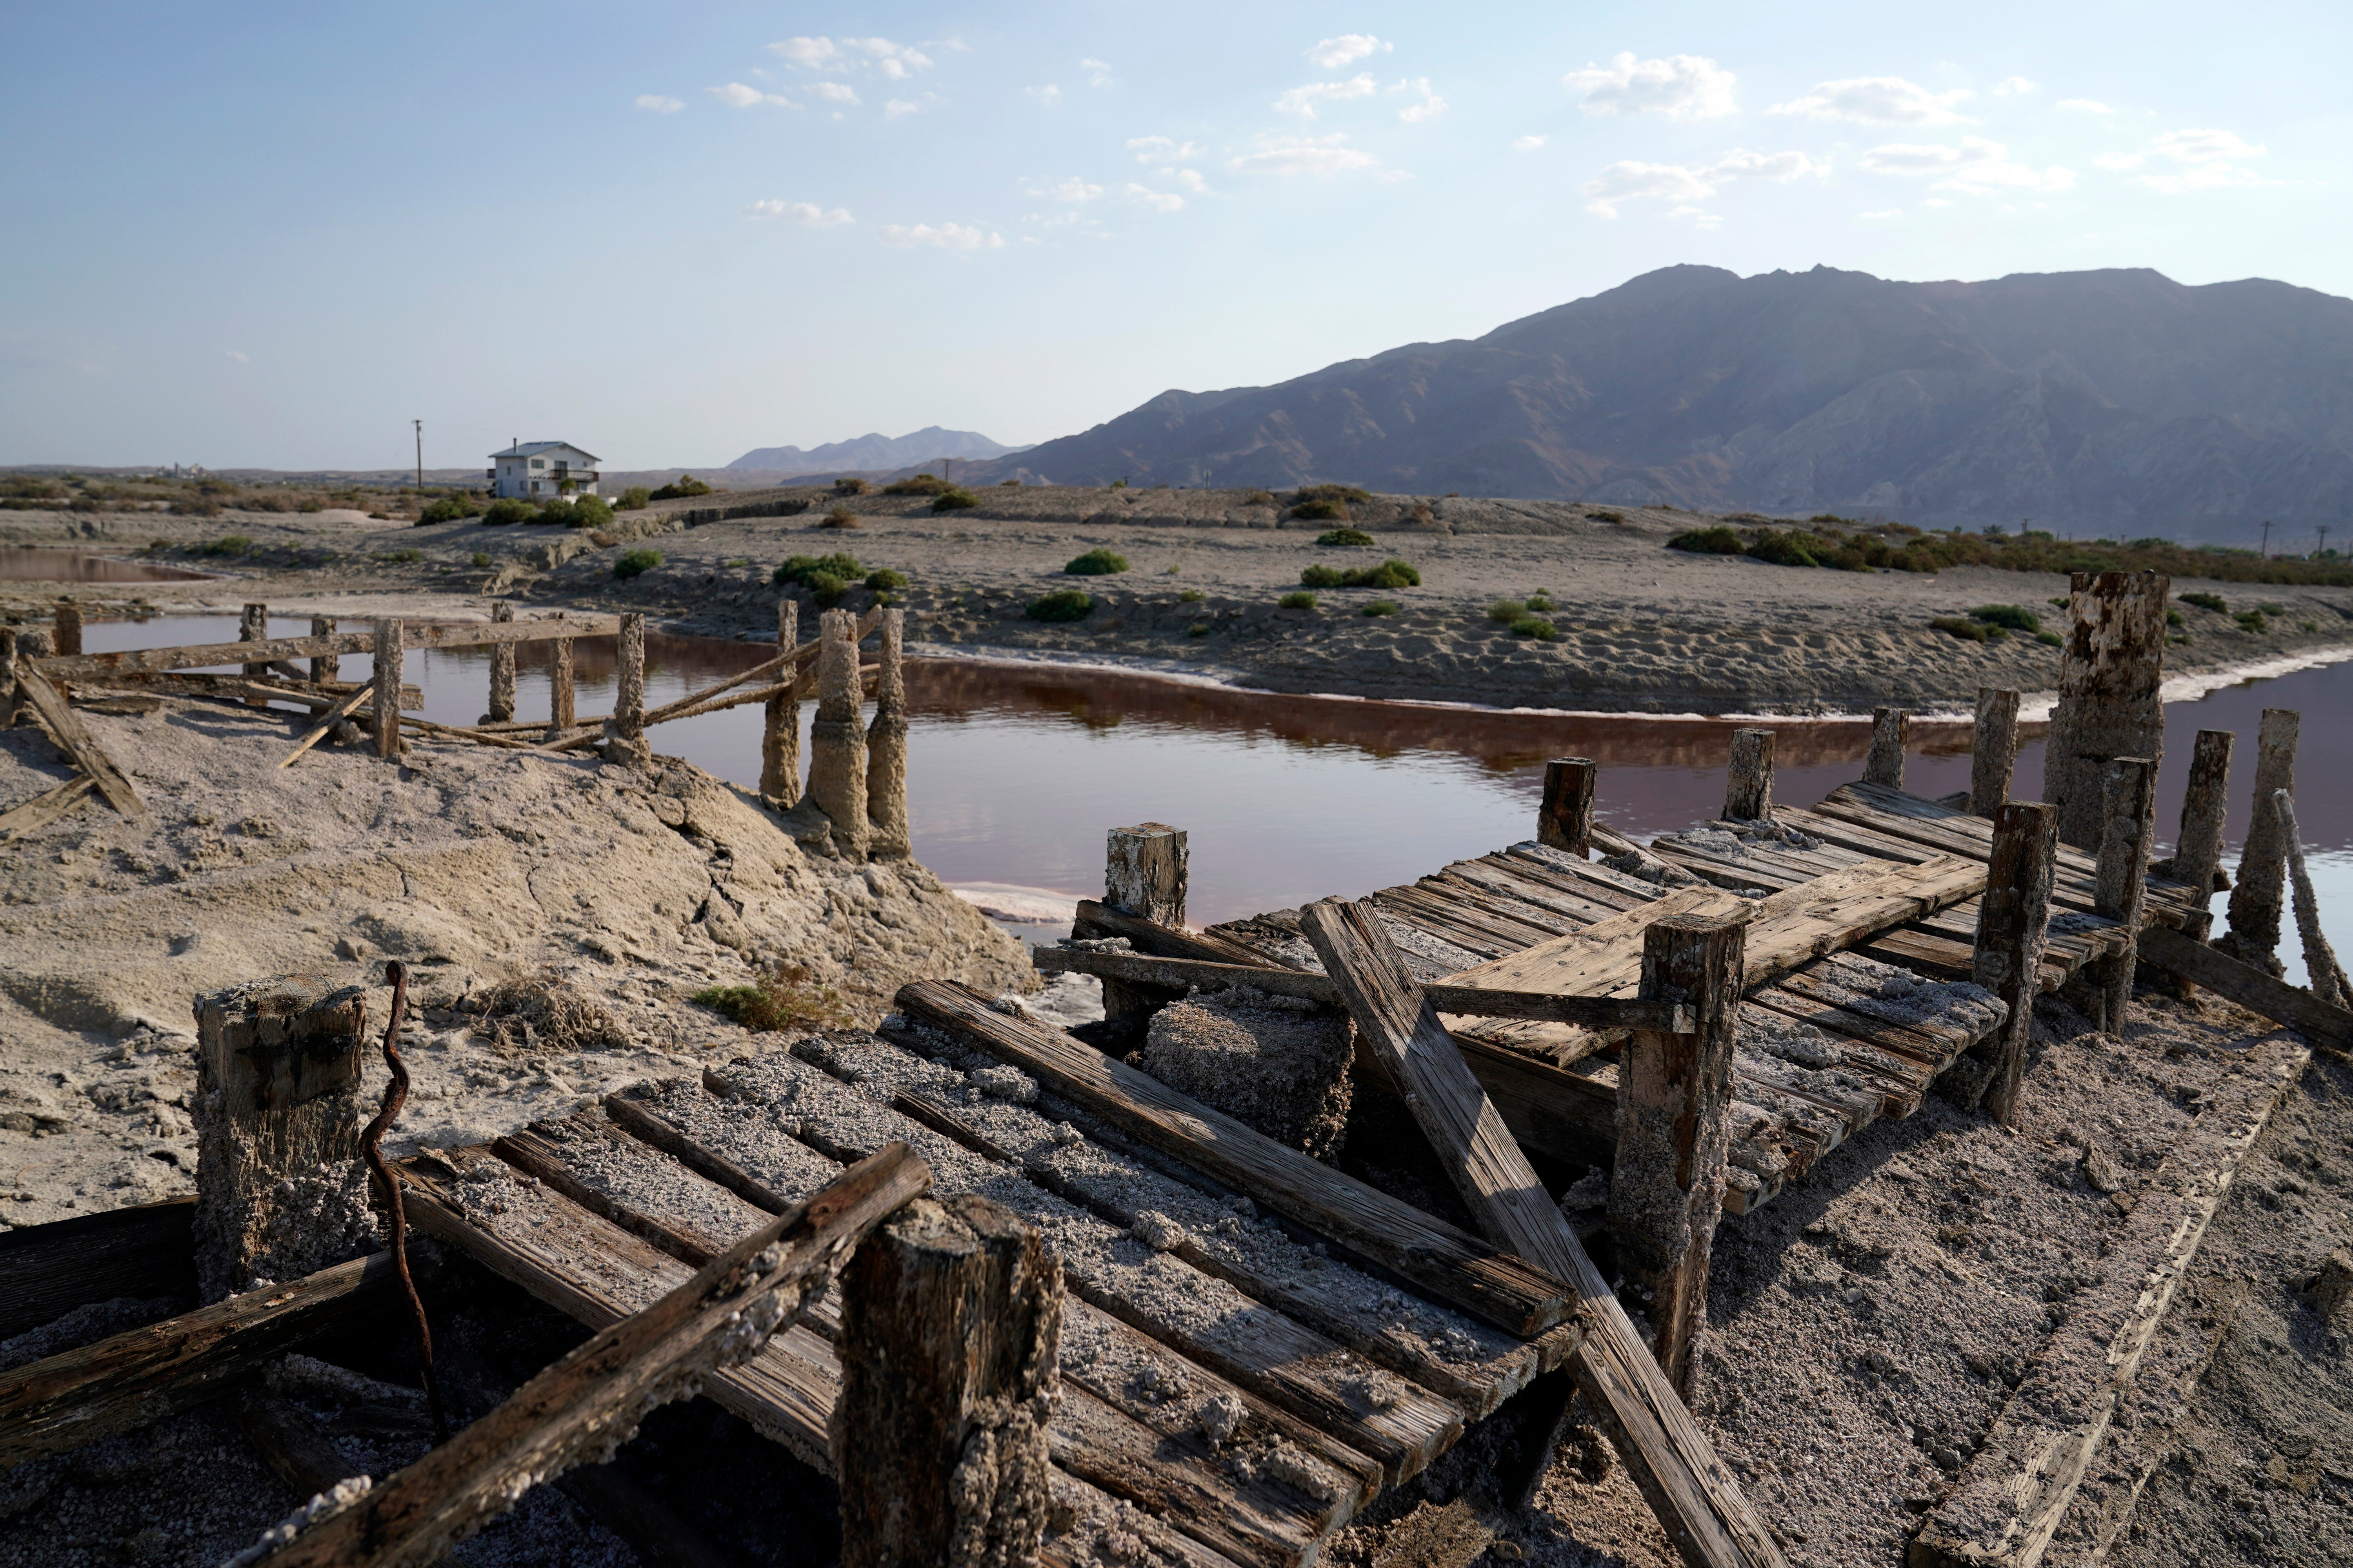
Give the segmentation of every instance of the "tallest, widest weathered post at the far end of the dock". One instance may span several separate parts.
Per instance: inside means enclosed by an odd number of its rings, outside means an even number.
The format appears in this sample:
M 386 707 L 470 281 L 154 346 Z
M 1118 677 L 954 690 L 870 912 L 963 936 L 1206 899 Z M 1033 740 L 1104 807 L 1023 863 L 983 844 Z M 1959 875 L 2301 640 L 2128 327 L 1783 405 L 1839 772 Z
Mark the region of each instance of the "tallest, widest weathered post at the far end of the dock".
M 2111 757 L 2165 757 L 2165 595 L 2160 571 L 2078 571 L 2068 578 L 2059 705 L 2042 748 L 2042 797 L 2059 809 L 2059 842 L 2097 849 Z

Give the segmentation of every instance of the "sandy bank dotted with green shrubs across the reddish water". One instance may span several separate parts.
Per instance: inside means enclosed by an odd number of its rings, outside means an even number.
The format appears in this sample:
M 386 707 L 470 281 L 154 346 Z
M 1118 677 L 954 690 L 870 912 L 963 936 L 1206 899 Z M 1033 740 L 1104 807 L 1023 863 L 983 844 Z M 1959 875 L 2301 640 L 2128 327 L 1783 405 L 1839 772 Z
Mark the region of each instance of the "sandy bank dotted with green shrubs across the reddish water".
M 2057 649 L 2028 637 L 1960 642 L 1929 628 L 1979 604 L 2047 611 L 2066 592 L 2054 574 L 1948 569 L 1847 574 L 1772 567 L 1746 557 L 1671 552 L 1664 541 L 1706 522 L 1692 512 L 1607 510 L 1558 501 L 1438 498 L 1417 517 L 1405 498 L 1358 505 L 1374 534 L 1365 550 L 1318 548 L 1327 524 L 1280 520 L 1247 491 L 1007 489 L 965 512 L 934 515 L 920 496 L 861 496 L 856 529 L 819 527 L 831 496 L 760 491 L 713 496 L 729 508 L 798 505 L 788 517 L 685 527 L 687 508 L 624 512 L 612 545 L 567 529 L 355 527 L 348 517 L 162 515 L 0 517 L 0 538 L 96 548 L 245 534 L 254 555 L 200 557 L 240 574 L 226 583 L 144 583 L 85 590 L 96 604 L 181 607 L 238 597 L 489 592 L 527 604 L 642 609 L 666 630 L 720 637 L 772 635 L 774 567 L 791 555 L 847 550 L 861 567 L 911 578 L 899 592 L 915 644 L 1019 651 L 1191 668 L 1273 691 L 1339 691 L 1431 701 L 1624 712 L 1857 712 L 1878 703 L 1967 708 L 1979 684 L 2047 691 Z M 360 520 L 365 524 L 365 520 Z M 1071 578 L 1061 567 L 1092 548 L 1129 559 L 1118 576 Z M 614 557 L 654 548 L 661 567 L 616 581 Z M 419 559 L 384 559 L 416 550 Z M 1329 588 L 1315 609 L 1280 609 L 1306 567 L 1367 567 L 1384 557 L 1421 571 L 1419 588 Z M 478 562 L 480 557 L 480 562 Z M 184 555 L 169 555 L 188 562 Z M 1094 611 L 1042 625 L 1024 609 L 1054 588 L 1082 588 Z M 2233 609 L 2275 604 L 2266 632 L 2184 607 L 2169 672 L 2226 670 L 2353 646 L 2353 590 L 2235 583 L 2174 585 L 2219 592 Z M 1487 618 L 1494 599 L 1548 592 L 1560 637 L 1513 637 Z M 38 616 L 52 588 L 12 585 L 0 614 Z M 1193 595 L 1193 597 L 1186 597 Z M 852 590 L 854 604 L 866 590 Z M 1393 616 L 1360 614 L 1374 599 Z M 358 604 L 358 599 L 353 599 Z M 360 614 L 353 609 L 351 614 Z M 480 609 L 475 609 L 480 614 Z

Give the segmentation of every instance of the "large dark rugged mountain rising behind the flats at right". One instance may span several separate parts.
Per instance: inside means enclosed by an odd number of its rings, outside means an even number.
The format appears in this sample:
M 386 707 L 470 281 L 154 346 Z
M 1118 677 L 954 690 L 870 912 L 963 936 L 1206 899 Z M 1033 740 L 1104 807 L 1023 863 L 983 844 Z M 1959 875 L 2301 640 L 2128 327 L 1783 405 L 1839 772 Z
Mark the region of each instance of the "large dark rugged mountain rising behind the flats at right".
M 972 477 L 1014 473 L 2205 536 L 2344 522 L 2353 301 L 2153 270 L 1675 266 L 1480 339 L 1169 390 Z

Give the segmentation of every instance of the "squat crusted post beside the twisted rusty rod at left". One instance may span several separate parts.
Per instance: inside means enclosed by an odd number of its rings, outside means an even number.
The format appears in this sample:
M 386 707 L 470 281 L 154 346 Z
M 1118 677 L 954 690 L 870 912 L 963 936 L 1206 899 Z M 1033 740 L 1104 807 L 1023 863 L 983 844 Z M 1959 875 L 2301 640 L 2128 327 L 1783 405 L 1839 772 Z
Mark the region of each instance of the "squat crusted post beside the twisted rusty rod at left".
M 195 1001 L 195 1279 L 212 1302 L 376 1244 L 360 1164 L 367 992 L 320 976 Z

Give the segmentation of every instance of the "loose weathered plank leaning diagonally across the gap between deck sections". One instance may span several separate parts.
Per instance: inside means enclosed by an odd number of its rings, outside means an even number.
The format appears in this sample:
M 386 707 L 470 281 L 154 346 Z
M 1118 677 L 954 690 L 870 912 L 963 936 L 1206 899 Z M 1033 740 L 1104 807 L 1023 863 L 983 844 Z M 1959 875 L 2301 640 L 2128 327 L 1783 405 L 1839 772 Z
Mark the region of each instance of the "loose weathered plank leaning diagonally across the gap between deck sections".
M 1609 1422 L 1619 1455 L 1675 1549 L 1687 1563 L 1704 1568 L 1781 1563 L 1765 1521 L 1748 1507 L 1659 1361 L 1642 1347 L 1609 1281 L 1593 1267 L 1504 1117 L 1471 1077 L 1381 922 L 1365 905 L 1329 900 L 1306 905 L 1299 924 L 1325 971 L 1348 994 L 1355 1027 L 1407 1091 L 1414 1121 L 1480 1227 L 1499 1246 L 1562 1279 L 1579 1298 L 1586 1319 L 1586 1338 L 1577 1352 L 1579 1382 Z

